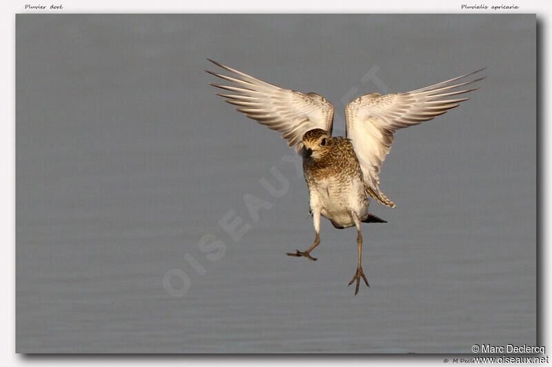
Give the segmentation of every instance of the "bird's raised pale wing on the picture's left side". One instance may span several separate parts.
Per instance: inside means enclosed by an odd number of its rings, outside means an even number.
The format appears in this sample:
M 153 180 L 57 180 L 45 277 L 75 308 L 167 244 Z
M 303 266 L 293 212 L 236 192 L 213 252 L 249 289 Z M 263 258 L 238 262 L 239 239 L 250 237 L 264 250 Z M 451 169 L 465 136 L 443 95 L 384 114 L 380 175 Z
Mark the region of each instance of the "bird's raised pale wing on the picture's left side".
M 302 93 L 273 86 L 213 60 L 215 65 L 228 70 L 232 77 L 216 72 L 206 72 L 234 83 L 236 86 L 223 86 L 210 83 L 230 92 L 239 94 L 217 95 L 226 98 L 226 102 L 236 106 L 236 110 L 244 112 L 247 117 L 258 123 L 282 132 L 282 138 L 288 141 L 288 146 L 295 147 L 297 152 L 303 148 L 301 139 L 305 132 L 321 128 L 332 132 L 333 106 L 324 97 L 316 93 Z

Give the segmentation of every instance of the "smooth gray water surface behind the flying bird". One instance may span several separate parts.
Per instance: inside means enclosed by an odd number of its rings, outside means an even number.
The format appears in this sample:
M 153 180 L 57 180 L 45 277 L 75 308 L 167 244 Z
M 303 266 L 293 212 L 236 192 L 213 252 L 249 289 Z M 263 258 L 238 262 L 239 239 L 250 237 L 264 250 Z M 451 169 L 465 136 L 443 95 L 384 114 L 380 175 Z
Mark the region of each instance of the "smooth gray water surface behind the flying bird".
M 535 344 L 534 15 L 18 14 L 16 27 L 18 353 Z M 314 237 L 293 151 L 214 95 L 206 57 L 324 95 L 336 135 L 351 88 L 385 92 L 368 70 L 406 91 L 488 67 L 470 101 L 397 133 L 380 175 L 397 208 L 371 204 L 388 223 L 362 228 L 371 288 L 347 287 L 354 229 L 324 219 L 317 262 L 285 255 Z M 279 186 L 271 167 L 289 182 L 279 198 L 259 183 Z M 256 222 L 246 194 L 270 203 Z M 238 241 L 219 225 L 229 210 L 250 224 Z M 224 256 L 199 247 L 209 233 Z M 169 270 L 189 277 L 183 297 Z

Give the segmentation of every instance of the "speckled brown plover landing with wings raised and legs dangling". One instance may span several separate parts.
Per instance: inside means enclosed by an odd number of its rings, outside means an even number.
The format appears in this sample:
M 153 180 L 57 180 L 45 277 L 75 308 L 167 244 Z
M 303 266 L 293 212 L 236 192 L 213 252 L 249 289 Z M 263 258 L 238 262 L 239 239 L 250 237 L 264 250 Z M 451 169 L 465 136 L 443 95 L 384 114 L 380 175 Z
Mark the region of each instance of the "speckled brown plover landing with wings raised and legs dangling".
M 302 155 L 304 178 L 308 186 L 309 214 L 313 217 L 315 240 L 304 251 L 287 252 L 291 257 L 316 261 L 311 252 L 320 244 L 320 219 L 325 217 L 335 228 L 352 226 L 357 230 L 357 270 L 349 286 L 356 281 L 355 295 L 362 279 L 362 223 L 386 223 L 368 212 L 373 199 L 395 208 L 380 189 L 380 168 L 391 150 L 395 132 L 443 115 L 468 100 L 456 97 L 479 87 L 459 89 L 484 77 L 468 77 L 485 68 L 440 83 L 387 95 L 368 93 L 354 99 L 345 108 L 345 137 L 332 136 L 334 108 L 315 92 L 298 92 L 275 86 L 217 61 L 225 74 L 205 70 L 225 84 L 209 83 L 224 90 L 216 95 L 237 106 L 236 110 L 271 130 L 282 132 L 288 146 Z M 228 93 L 230 92 L 230 93 Z

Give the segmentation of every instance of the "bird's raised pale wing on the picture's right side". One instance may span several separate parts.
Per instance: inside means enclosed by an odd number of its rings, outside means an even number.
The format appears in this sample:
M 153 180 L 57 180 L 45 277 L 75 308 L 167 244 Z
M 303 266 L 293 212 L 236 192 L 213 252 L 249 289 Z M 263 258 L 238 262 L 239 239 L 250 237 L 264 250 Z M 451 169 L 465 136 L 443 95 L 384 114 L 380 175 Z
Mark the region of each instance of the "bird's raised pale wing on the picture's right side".
M 457 107 L 460 102 L 469 99 L 444 98 L 476 90 L 477 88 L 455 90 L 484 79 L 455 83 L 475 72 L 411 92 L 384 96 L 371 93 L 348 103 L 345 109 L 346 135 L 353 143 L 364 175 L 366 192 L 369 195 L 381 204 L 395 208 L 393 201 L 380 191 L 379 178 L 380 167 L 391 150 L 393 134 L 398 129 L 417 125 L 442 115 L 447 110 Z

